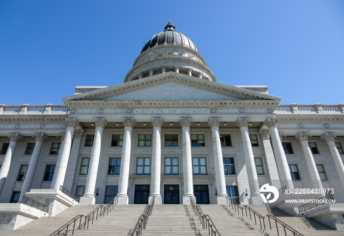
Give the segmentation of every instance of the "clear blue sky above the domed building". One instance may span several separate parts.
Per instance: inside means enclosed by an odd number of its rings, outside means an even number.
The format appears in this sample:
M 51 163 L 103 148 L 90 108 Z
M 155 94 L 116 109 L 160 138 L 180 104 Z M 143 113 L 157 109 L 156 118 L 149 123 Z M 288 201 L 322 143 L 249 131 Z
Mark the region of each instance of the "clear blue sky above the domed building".
M 123 82 L 171 20 L 218 82 L 281 104 L 344 103 L 343 0 L 0 0 L 0 104 L 63 104 Z

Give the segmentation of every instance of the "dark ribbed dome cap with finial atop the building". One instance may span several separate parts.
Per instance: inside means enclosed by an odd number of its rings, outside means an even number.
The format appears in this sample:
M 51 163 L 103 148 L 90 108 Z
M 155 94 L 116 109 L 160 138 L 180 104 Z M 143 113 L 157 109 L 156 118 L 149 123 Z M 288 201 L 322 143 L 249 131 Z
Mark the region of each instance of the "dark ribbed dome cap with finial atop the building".
M 175 26 L 172 25 L 171 21 L 165 26 L 164 32 L 155 34 L 151 39 L 144 45 L 142 52 L 161 44 L 176 44 L 182 45 L 199 52 L 194 42 L 189 39 L 186 35 L 175 31 Z

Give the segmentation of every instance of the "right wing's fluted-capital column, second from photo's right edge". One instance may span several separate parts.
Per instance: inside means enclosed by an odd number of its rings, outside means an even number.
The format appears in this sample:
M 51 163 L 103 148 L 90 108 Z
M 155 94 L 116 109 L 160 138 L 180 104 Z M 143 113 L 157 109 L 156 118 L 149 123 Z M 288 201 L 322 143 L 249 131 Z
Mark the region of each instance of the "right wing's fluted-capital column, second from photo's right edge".
M 311 176 L 313 188 L 322 188 L 320 176 L 315 165 L 314 157 L 311 148 L 308 144 L 309 132 L 299 132 L 295 138 L 301 143 L 303 155 L 305 156 L 308 171 Z

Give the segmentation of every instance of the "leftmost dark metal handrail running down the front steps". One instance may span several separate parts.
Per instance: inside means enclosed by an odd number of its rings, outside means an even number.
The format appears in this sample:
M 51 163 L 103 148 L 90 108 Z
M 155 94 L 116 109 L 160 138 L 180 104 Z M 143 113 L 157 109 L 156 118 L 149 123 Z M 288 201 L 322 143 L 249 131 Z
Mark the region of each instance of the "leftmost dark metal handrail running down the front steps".
M 94 220 L 98 219 L 98 216 L 105 216 L 105 211 L 107 212 L 107 214 L 109 214 L 109 210 L 111 212 L 111 209 L 114 209 L 114 207 L 116 206 L 116 204 L 118 203 L 118 198 L 115 197 L 113 200 L 111 200 L 110 203 L 108 203 L 105 207 L 103 205 L 100 205 L 99 207 L 97 207 L 96 209 L 94 209 L 91 213 L 89 213 L 88 215 L 85 216 L 85 221 L 83 221 L 83 217 L 84 215 L 77 215 L 76 217 L 74 217 L 72 220 L 70 220 L 68 223 L 66 223 L 65 225 L 63 225 L 61 228 L 59 228 L 57 231 L 55 231 L 53 234 L 51 234 L 50 236 L 67 236 L 68 234 L 68 228 L 71 224 L 73 224 L 73 230 L 72 230 L 72 234 L 74 234 L 74 230 L 75 230 L 75 224 L 76 222 L 79 222 L 79 227 L 77 228 L 78 230 L 85 230 L 88 229 L 88 225 L 89 222 L 91 221 L 91 224 L 93 224 Z M 94 219 L 94 214 L 95 214 L 95 219 Z M 80 219 L 80 220 L 79 220 Z M 82 223 L 83 222 L 83 223 Z M 87 228 L 86 228 L 87 225 Z

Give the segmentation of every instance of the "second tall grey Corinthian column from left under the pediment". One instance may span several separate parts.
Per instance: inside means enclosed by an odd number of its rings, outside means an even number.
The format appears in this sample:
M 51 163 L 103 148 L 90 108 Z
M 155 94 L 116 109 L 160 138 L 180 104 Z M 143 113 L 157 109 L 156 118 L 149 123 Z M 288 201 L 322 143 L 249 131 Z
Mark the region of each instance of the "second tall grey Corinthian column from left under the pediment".
M 107 125 L 107 122 L 105 118 L 94 118 L 95 133 L 94 133 L 94 141 L 93 141 L 93 146 L 92 146 L 91 157 L 89 160 L 85 193 L 80 198 L 80 204 L 83 204 L 83 205 L 90 205 L 90 204 L 95 203 L 94 189 L 95 189 L 95 183 L 97 180 L 100 147 L 102 144 L 102 135 L 103 135 L 103 130 L 106 125 Z

